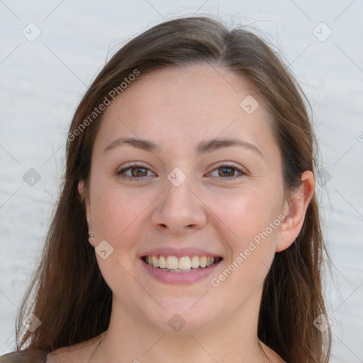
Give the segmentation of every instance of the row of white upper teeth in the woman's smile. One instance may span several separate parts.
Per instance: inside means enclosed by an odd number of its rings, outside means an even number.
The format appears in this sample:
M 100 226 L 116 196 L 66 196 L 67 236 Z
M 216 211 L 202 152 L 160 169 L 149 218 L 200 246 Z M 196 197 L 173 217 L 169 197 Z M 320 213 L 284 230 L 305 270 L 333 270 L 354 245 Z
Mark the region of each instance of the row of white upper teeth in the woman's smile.
M 198 267 L 209 267 L 214 263 L 214 257 L 206 256 L 160 256 L 155 255 L 147 256 L 146 262 L 153 267 L 160 267 L 161 269 L 197 269 Z

